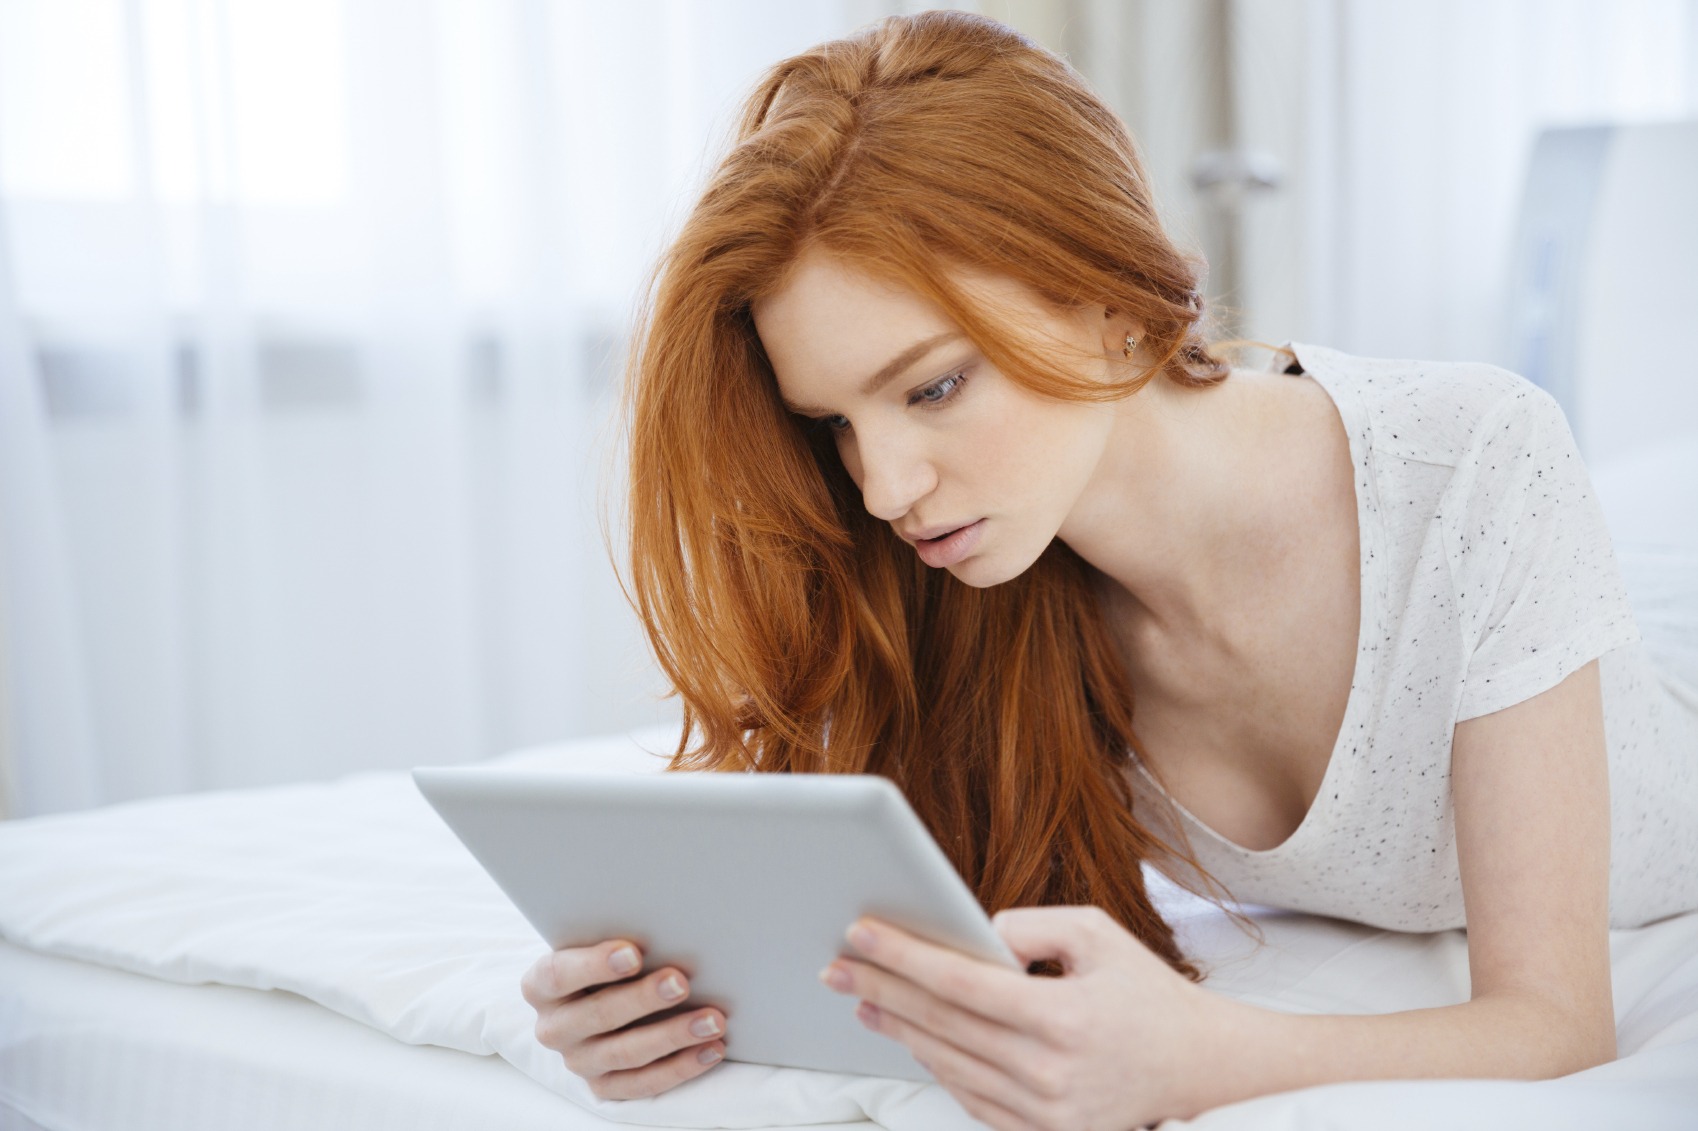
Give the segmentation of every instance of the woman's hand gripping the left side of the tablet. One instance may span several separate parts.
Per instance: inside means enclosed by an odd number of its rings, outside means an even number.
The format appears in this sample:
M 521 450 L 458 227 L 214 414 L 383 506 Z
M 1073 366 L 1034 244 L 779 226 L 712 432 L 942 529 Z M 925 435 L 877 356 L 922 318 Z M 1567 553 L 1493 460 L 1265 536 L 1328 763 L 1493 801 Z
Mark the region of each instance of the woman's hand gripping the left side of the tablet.
M 725 1056 L 725 1014 L 717 1009 L 632 1024 L 676 1009 L 689 980 L 676 966 L 642 975 L 642 951 L 625 939 L 543 954 L 520 990 L 537 1010 L 537 1039 L 598 1099 L 657 1095 Z

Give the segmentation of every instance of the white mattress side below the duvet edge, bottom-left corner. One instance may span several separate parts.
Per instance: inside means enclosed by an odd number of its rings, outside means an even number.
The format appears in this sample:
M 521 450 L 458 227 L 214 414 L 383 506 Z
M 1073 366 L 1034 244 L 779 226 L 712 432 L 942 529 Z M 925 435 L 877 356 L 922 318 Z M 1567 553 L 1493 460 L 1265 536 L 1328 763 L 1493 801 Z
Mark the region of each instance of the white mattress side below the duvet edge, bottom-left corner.
M 402 1044 L 294 993 L 180 985 L 0 942 L 0 1131 L 613 1126 L 498 1056 Z

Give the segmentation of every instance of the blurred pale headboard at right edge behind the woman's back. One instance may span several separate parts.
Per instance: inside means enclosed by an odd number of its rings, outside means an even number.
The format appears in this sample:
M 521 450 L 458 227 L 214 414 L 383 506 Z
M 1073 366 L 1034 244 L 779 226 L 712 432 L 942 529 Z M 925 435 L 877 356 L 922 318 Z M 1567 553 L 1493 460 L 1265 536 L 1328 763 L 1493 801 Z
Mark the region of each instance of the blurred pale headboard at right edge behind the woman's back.
M 1547 129 L 1510 363 L 1562 402 L 1618 545 L 1698 543 L 1698 121 Z

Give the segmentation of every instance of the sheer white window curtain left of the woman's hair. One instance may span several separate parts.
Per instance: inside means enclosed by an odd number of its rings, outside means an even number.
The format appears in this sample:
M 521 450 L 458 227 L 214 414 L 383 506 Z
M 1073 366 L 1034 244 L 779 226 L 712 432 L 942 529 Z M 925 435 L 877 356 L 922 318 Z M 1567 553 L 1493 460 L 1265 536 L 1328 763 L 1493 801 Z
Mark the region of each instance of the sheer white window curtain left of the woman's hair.
M 0 0 L 12 813 L 671 715 L 632 297 L 735 97 L 886 10 Z

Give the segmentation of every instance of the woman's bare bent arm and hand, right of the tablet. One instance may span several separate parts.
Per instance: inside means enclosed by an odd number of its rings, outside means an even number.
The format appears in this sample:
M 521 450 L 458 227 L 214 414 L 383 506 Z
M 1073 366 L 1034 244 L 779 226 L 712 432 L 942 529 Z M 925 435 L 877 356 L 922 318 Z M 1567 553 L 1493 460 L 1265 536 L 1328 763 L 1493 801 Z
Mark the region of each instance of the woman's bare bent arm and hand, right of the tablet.
M 1136 1126 L 1336 1080 L 1545 1078 L 1615 1056 L 1598 666 L 1464 722 L 1452 752 L 1472 1000 L 1294 1016 L 1207 992 L 1094 909 L 997 926 L 1027 978 L 863 920 L 829 985 L 993 1128 Z M 1387 876 L 1394 881 L 1394 876 Z

